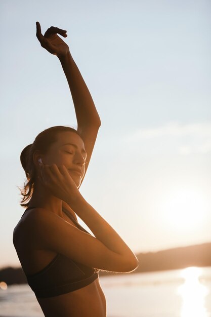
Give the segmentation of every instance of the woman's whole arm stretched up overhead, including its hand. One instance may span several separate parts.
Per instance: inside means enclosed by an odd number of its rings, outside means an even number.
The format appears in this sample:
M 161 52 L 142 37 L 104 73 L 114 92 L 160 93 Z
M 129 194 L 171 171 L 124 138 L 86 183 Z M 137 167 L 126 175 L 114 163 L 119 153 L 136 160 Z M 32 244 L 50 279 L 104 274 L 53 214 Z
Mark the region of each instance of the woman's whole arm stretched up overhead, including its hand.
M 43 35 L 39 22 L 36 22 L 36 36 L 40 45 L 59 58 L 67 78 L 77 118 L 77 131 L 87 151 L 86 174 L 101 121 L 89 89 L 70 54 L 69 47 L 57 33 L 67 37 L 66 30 L 53 26 Z

